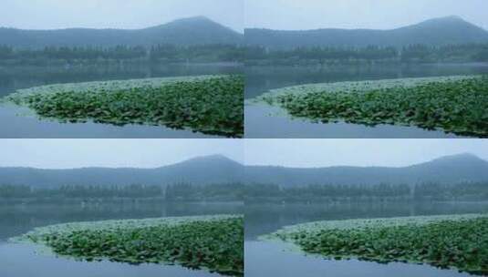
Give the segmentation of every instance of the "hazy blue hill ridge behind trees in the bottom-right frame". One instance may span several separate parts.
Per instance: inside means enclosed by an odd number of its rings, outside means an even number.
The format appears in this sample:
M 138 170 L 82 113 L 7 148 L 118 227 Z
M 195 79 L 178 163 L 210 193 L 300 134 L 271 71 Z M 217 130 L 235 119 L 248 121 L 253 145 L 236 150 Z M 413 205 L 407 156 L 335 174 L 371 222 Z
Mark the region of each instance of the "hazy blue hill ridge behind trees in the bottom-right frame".
M 310 184 L 377 185 L 462 181 L 488 181 L 488 162 L 471 154 L 434 159 L 404 168 L 330 167 L 293 169 L 283 167 L 246 167 L 246 180 L 254 183 L 300 187 Z

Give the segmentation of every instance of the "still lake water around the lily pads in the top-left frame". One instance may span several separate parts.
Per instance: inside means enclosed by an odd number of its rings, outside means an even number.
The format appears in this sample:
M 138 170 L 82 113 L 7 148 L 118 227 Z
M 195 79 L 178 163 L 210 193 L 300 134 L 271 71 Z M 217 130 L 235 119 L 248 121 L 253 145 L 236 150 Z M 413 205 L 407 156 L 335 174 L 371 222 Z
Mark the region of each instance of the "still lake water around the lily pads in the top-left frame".
M 178 77 L 243 72 L 238 64 L 188 65 L 92 65 L 79 67 L 0 67 L 0 97 L 16 89 L 60 83 L 119 80 L 146 77 Z M 0 104 L 0 138 L 219 138 L 160 126 L 98 123 L 60 123 L 24 116 L 25 109 Z

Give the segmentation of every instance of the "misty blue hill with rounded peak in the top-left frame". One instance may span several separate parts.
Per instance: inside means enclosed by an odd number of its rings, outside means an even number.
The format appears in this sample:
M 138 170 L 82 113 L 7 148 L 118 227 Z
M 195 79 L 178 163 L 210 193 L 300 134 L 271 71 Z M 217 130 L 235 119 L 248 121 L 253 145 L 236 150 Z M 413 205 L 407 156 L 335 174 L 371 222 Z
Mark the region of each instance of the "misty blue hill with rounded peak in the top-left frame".
M 137 30 L 70 28 L 21 30 L 0 28 L 0 45 L 44 46 L 178 46 L 241 44 L 243 35 L 203 17 L 183 18 L 161 26 Z

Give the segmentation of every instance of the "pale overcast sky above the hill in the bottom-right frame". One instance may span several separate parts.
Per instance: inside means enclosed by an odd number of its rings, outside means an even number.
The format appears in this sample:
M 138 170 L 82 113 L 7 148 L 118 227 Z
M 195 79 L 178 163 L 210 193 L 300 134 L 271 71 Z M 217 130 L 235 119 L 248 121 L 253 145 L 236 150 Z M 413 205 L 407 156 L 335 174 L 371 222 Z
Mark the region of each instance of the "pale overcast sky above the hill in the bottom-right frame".
M 488 139 L 246 139 L 248 165 L 401 167 L 470 152 L 488 160 Z

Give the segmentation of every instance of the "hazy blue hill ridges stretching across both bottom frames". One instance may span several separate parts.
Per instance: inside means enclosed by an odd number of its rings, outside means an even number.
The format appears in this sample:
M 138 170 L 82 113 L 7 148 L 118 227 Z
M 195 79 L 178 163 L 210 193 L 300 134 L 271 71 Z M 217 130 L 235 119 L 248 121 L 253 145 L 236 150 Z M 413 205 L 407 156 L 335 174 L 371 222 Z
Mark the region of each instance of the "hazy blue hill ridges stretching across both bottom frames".
M 189 159 L 156 169 L 32 169 L 0 168 L 0 185 L 57 188 L 62 185 L 195 185 L 245 181 L 300 187 L 310 184 L 378 185 L 488 181 L 488 161 L 471 154 L 442 157 L 403 168 L 329 167 L 294 169 L 246 166 L 223 156 Z

